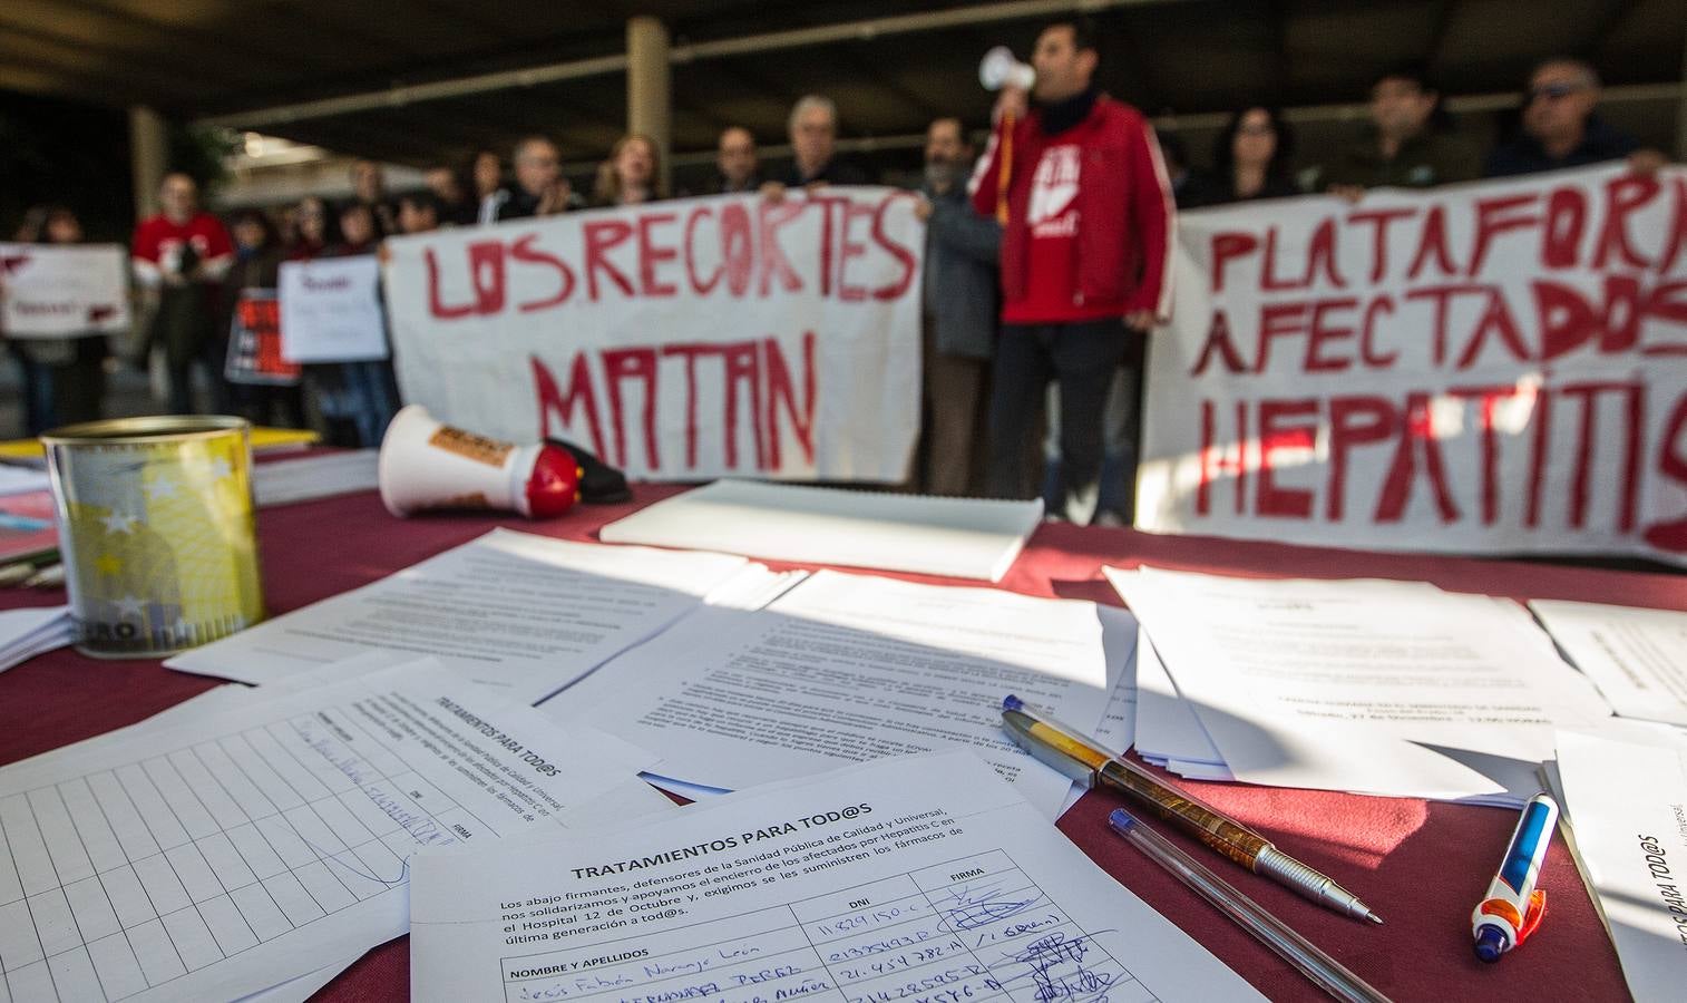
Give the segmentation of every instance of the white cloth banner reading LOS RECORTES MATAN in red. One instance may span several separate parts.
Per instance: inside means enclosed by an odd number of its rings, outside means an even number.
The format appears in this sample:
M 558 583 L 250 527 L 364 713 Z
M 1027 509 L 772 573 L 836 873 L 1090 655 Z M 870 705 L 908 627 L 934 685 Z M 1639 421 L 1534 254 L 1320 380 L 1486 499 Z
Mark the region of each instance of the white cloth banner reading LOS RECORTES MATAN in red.
M 919 426 L 913 208 L 827 187 L 390 240 L 403 397 L 639 478 L 899 481 Z

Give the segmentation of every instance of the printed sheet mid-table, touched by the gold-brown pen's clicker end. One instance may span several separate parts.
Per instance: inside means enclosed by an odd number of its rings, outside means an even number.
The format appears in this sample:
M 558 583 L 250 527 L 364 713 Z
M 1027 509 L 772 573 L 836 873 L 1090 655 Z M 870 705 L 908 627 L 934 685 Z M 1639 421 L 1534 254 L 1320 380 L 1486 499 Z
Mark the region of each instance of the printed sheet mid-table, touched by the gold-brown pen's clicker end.
M 1093 731 L 1108 669 L 1093 603 L 820 571 L 763 611 L 700 610 L 543 709 L 729 790 L 960 743 L 1054 817 L 1071 783 L 1005 736 L 1002 697 Z

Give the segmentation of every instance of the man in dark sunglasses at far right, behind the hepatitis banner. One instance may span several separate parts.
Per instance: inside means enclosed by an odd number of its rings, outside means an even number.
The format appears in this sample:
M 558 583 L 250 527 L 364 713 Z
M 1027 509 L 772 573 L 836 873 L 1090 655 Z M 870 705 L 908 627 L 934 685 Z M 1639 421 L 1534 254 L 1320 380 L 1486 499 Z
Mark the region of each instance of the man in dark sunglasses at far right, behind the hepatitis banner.
M 1488 177 L 1539 174 L 1628 159 L 1631 169 L 1650 174 L 1663 154 L 1640 149 L 1635 137 L 1613 128 L 1594 111 L 1599 74 L 1581 59 L 1549 59 L 1528 78 L 1523 91 L 1523 128 L 1510 144 L 1488 155 Z

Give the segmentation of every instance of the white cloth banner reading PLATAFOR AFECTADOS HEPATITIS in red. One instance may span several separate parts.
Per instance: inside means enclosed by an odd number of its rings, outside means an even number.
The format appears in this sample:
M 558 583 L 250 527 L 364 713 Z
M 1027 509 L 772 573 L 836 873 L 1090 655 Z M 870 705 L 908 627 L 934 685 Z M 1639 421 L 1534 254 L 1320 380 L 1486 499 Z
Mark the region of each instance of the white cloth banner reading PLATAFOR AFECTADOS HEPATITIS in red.
M 1181 220 L 1157 532 L 1687 564 L 1687 172 Z

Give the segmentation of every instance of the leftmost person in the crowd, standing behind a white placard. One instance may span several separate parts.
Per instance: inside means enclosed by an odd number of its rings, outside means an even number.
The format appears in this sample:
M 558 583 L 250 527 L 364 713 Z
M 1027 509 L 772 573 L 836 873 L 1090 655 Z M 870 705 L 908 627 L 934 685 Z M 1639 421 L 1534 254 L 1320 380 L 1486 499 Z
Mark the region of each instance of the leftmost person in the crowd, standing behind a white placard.
M 83 225 L 64 206 L 44 206 L 30 213 L 19 238 L 29 243 L 81 243 Z M 24 368 L 24 426 L 29 436 L 100 417 L 105 397 L 105 334 L 88 331 L 66 338 L 13 338 L 12 353 Z

